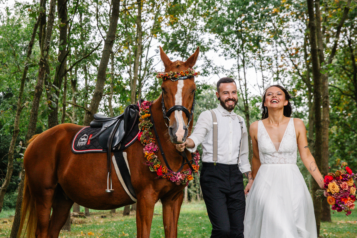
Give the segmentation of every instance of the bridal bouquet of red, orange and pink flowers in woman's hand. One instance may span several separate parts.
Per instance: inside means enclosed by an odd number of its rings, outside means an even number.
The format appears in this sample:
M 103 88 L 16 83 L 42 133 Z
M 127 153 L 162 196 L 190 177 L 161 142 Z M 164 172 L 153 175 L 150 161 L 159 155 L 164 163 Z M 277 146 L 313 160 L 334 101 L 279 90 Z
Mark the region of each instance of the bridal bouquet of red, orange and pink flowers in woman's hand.
M 340 170 L 325 176 L 323 182 L 325 182 L 326 190 L 318 189 L 316 197 L 321 201 L 327 197 L 327 202 L 332 205 L 332 210 L 345 211 L 348 216 L 351 214 L 351 210 L 355 209 L 356 185 L 353 180 L 356 179 L 357 175 L 347 167 L 346 162 L 342 162 Z

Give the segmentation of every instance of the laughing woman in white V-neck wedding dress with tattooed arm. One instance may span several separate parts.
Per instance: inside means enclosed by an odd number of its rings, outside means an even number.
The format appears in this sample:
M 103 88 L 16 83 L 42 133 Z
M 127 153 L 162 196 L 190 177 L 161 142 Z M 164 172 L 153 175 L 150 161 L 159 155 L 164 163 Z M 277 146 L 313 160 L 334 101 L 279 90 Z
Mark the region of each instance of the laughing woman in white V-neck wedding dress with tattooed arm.
M 250 127 L 255 179 L 246 201 L 246 238 L 317 237 L 311 195 L 296 165 L 297 148 L 321 188 L 323 177 L 307 146 L 303 121 L 290 118 L 290 98 L 282 86 L 268 87 L 262 95 L 262 120 Z

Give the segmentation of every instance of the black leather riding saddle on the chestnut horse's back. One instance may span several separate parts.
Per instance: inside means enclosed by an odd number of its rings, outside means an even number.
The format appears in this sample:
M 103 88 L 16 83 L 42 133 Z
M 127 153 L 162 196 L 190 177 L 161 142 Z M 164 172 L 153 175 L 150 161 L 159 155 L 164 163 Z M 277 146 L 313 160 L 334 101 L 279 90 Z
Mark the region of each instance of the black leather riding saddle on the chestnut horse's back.
M 120 142 L 125 139 L 139 121 L 139 106 L 131 104 L 123 113 L 115 117 L 94 114 L 94 120 L 89 124 L 93 128 L 101 128 L 93 138 L 98 137 L 103 148 L 120 148 Z

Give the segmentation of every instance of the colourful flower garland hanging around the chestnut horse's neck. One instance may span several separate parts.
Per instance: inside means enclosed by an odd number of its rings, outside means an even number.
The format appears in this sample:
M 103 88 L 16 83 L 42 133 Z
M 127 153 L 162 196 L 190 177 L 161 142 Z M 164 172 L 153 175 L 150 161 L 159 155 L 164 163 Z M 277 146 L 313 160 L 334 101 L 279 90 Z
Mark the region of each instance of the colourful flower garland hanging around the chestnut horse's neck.
M 152 102 L 144 101 L 140 106 L 140 117 L 139 117 L 139 129 L 140 133 L 138 138 L 141 144 L 144 146 L 144 156 L 146 158 L 145 164 L 149 166 L 151 172 L 156 172 L 157 178 L 166 178 L 171 182 L 175 182 L 177 185 L 183 184 L 187 185 L 193 179 L 192 172 L 198 173 L 200 165 L 198 161 L 200 160 L 200 154 L 196 150 L 192 153 L 193 162 L 191 171 L 190 168 L 186 169 L 182 173 L 173 172 L 166 166 L 162 166 L 160 160 L 157 158 L 155 153 L 159 151 L 159 147 L 155 143 L 155 139 L 151 133 L 152 123 L 150 121 L 150 106 Z

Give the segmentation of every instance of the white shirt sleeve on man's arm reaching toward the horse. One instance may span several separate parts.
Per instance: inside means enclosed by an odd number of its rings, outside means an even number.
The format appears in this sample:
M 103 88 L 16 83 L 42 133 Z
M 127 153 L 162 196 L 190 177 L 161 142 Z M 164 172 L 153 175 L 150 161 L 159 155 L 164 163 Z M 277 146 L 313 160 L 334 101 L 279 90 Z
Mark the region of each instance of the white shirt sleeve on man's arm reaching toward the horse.
M 194 153 L 197 150 L 197 146 L 200 145 L 203 141 L 205 141 L 205 136 L 210 132 L 212 124 L 212 114 L 210 111 L 201 112 L 200 116 L 198 116 L 195 128 L 193 128 L 192 134 L 188 137 L 194 143 L 195 147 L 186 149 L 191 153 Z

